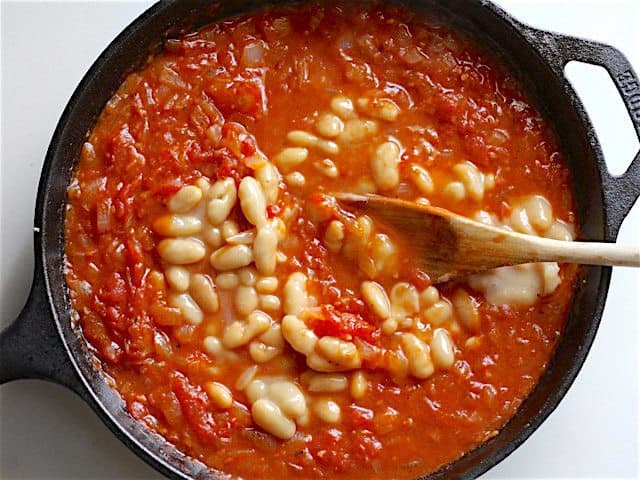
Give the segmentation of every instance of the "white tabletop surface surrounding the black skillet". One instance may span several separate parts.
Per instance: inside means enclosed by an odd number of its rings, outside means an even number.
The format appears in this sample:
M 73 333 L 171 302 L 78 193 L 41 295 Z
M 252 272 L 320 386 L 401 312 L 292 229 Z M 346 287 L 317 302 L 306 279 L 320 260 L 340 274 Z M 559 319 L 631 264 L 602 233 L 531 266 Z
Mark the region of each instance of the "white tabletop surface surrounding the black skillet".
M 640 1 L 499 2 L 534 26 L 613 44 L 640 71 Z M 150 2 L 3 2 L 0 324 L 31 281 L 35 191 L 49 139 L 82 75 Z M 568 73 L 593 117 L 609 165 L 624 170 L 638 144 L 603 72 Z M 640 245 L 640 205 L 620 242 Z M 604 319 L 576 383 L 544 425 L 484 478 L 638 478 L 640 275 L 616 269 Z M 0 388 L 0 478 L 156 479 L 93 412 L 56 385 Z

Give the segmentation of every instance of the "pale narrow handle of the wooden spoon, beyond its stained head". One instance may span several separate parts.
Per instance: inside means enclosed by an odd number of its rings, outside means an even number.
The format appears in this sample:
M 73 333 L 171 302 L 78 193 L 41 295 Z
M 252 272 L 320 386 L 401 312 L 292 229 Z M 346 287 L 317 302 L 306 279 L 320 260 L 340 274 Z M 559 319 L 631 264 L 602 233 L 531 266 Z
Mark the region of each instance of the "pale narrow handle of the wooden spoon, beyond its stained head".
M 530 238 L 541 261 L 640 267 L 640 248 L 632 245 L 598 242 L 562 242 Z

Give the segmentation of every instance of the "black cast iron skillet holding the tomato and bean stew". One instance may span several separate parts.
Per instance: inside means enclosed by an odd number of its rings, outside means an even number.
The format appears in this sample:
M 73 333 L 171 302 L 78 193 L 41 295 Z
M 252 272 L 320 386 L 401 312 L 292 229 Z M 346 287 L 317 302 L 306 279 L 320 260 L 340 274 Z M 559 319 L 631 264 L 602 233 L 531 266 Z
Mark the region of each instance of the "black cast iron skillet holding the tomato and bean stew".
M 0 335 L 0 382 L 40 378 L 80 395 L 140 458 L 170 478 L 217 478 L 202 463 L 133 420 L 106 383 L 99 363 L 72 322 L 63 275 L 65 190 L 80 147 L 103 105 L 124 76 L 167 36 L 266 2 L 211 0 L 161 2 L 135 20 L 93 64 L 74 92 L 51 140 L 34 218 L 35 272 L 18 319 Z M 410 8 L 443 15 L 454 27 L 498 51 L 554 126 L 571 168 L 580 231 L 587 239 L 615 241 L 640 195 L 640 153 L 628 170 L 611 176 L 582 103 L 564 77 L 572 60 L 607 69 L 640 137 L 640 83 L 627 59 L 600 43 L 533 29 L 486 0 L 408 1 Z M 554 357 L 535 390 L 500 433 L 426 477 L 475 478 L 509 455 L 556 408 L 591 347 L 607 296 L 610 268 L 585 268 Z M 90 472 L 87 472 L 90 475 Z

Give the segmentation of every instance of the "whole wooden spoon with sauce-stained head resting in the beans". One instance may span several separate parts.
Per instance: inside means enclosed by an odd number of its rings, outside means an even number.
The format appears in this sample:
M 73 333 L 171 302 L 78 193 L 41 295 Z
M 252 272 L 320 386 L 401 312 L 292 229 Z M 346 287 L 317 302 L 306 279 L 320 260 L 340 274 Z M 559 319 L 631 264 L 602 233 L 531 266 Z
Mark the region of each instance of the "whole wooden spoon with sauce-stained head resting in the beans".
M 443 208 L 379 195 L 338 193 L 344 205 L 393 227 L 413 246 L 434 282 L 530 262 L 640 267 L 640 248 L 597 242 L 564 242 L 509 232 Z

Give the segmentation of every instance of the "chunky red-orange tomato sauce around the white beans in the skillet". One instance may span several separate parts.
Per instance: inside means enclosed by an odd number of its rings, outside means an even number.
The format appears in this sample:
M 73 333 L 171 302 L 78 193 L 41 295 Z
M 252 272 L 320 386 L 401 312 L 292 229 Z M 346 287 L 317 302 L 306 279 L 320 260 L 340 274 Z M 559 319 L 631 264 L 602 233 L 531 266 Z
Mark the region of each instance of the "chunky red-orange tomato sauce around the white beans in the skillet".
M 385 98 L 401 113 L 393 122 L 376 120 L 366 141 L 338 142 L 335 177 L 314 166 L 326 154 L 309 148 L 310 158 L 296 167 L 304 186 L 283 181 L 278 202 L 267 208 L 271 219 L 298 212 L 276 276 L 281 284 L 295 271 L 311 279 L 319 307 L 307 325 L 318 337 L 390 345 L 359 293 L 367 276 L 323 243 L 327 217 L 344 215 L 347 228 L 355 217 L 336 213 L 321 195 L 371 183 L 372 148 L 380 142 L 392 138 L 402 151 L 399 183 L 378 193 L 424 197 L 409 180 L 411 165 L 419 165 L 435 185 L 427 195 L 433 205 L 505 219 L 518 199 L 543 195 L 556 218 L 574 221 L 571 178 L 546 121 L 498 59 L 433 19 L 377 3 L 297 5 L 168 40 L 125 79 L 82 150 L 68 189 L 67 283 L 82 333 L 130 414 L 234 478 L 432 472 L 496 435 L 515 413 L 545 370 L 567 315 L 575 275 L 565 266 L 557 288 L 525 307 L 491 304 L 464 283 L 438 285 L 445 299 L 462 288 L 479 315 L 475 331 L 453 322 L 450 368 L 421 380 L 367 357 L 368 393 L 357 400 L 337 395 L 339 422 L 312 416 L 285 441 L 259 428 L 245 394 L 233 387 L 253 362 L 245 351 L 233 361 L 212 358 L 202 342 L 224 321 L 188 325 L 169 305 L 157 251 L 162 237 L 153 224 L 183 186 L 201 177 L 239 183 L 251 174 L 247 158 L 274 158 L 291 147 L 289 132 L 314 132 L 337 95 Z M 453 167 L 466 161 L 495 183 L 481 201 L 445 191 Z M 232 215 L 241 231 L 251 227 Z M 401 261 L 382 286 L 404 280 L 429 287 L 411 246 L 387 233 Z M 207 262 L 195 268 L 210 272 Z M 221 305 L 232 302 L 218 293 Z M 286 371 L 298 379 L 307 369 L 289 345 L 280 358 L 261 364 L 261 374 Z M 212 404 L 205 388 L 212 379 L 232 390 L 230 408 Z

